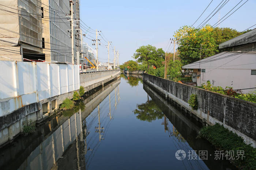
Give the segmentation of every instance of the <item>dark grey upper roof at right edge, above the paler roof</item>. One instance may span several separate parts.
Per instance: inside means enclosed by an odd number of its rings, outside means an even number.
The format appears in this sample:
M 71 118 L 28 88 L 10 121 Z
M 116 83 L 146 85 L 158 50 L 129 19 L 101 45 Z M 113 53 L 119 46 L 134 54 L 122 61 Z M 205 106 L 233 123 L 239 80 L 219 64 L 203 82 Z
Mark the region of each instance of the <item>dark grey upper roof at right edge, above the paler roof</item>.
M 253 43 L 253 42 L 256 42 L 256 28 L 253 29 L 252 31 L 246 32 L 240 36 L 237 36 L 231 40 L 228 40 L 222 44 L 219 44 L 219 49 Z

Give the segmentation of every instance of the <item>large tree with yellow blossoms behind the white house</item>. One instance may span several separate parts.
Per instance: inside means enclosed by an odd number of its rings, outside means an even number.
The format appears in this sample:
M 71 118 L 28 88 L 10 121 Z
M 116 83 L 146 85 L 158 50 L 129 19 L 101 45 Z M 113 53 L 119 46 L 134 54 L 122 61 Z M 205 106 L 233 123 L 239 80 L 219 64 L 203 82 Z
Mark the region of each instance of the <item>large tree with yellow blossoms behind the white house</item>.
M 231 28 L 212 28 L 206 25 L 201 29 L 195 29 L 187 25 L 174 32 L 174 37 L 179 41 L 178 52 L 184 64 L 192 63 L 200 58 L 202 45 L 202 59 L 219 52 L 218 45 L 230 40 L 240 32 Z

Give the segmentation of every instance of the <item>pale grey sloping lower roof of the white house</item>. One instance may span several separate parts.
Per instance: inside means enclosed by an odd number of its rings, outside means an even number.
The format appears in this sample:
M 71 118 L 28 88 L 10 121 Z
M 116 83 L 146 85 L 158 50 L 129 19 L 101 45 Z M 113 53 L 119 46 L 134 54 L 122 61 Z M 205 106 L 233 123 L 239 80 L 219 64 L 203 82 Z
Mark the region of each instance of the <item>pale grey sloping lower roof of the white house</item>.
M 221 52 L 219 54 L 202 59 L 200 62 L 197 61 L 191 64 L 187 64 L 182 68 L 256 70 L 256 52 Z

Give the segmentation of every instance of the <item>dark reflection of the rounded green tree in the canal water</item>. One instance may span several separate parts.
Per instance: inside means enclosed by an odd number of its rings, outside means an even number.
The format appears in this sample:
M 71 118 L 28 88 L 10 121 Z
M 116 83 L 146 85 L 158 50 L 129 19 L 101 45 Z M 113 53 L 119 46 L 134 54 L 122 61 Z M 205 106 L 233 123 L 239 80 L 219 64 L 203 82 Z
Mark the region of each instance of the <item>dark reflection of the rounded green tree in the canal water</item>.
M 164 116 L 153 100 L 147 100 L 146 103 L 140 104 L 137 107 L 138 109 L 133 111 L 134 114 L 137 114 L 137 119 L 152 122 L 152 120 L 162 119 Z

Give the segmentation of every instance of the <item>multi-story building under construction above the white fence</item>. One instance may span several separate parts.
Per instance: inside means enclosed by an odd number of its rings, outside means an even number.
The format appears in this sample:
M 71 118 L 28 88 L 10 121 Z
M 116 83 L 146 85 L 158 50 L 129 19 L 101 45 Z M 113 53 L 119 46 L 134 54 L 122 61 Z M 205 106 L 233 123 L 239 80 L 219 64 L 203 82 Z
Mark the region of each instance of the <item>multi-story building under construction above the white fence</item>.
M 81 50 L 79 19 L 79 0 L 1 0 L 0 60 L 76 64 L 76 51 Z

